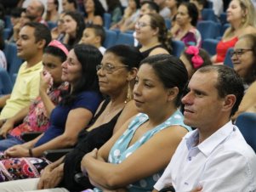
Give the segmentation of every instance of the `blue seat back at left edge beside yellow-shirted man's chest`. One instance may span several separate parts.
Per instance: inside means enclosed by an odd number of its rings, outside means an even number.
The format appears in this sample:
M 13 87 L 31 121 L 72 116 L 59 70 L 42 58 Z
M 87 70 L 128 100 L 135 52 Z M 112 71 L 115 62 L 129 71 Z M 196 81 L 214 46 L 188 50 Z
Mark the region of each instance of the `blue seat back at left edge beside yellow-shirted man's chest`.
M 0 67 L 0 94 L 9 94 L 13 90 L 13 83 L 6 70 Z

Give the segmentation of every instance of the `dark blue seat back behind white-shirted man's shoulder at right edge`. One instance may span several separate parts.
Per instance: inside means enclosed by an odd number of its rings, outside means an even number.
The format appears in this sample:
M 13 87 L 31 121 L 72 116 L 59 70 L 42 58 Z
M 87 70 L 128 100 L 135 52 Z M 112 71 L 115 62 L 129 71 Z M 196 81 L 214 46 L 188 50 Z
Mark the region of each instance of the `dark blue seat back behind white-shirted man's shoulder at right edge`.
M 236 126 L 253 150 L 256 152 L 256 113 L 242 113 L 236 118 Z

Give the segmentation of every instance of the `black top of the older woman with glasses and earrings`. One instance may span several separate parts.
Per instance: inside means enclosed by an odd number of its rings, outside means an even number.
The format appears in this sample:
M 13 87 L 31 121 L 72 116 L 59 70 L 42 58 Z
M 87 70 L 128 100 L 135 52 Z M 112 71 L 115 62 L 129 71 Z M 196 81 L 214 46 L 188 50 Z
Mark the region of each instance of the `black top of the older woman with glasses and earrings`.
M 105 110 L 106 105 L 110 102 L 110 99 L 106 99 L 102 104 L 100 111 L 94 116 L 91 125 L 98 119 L 101 113 Z M 74 177 L 77 173 L 81 172 L 81 161 L 83 155 L 91 152 L 95 148 L 100 149 L 100 147 L 109 140 L 113 134 L 113 128 L 117 123 L 117 119 L 122 113 L 122 110 L 114 116 L 111 121 L 101 125 L 100 127 L 95 127 L 91 131 L 82 130 L 78 136 L 77 146 L 70 153 L 65 155 L 64 160 L 64 178 L 59 185 L 59 187 L 65 187 L 70 191 L 81 191 L 83 189 L 92 189 L 94 186 L 89 183 L 88 178 L 85 178 L 79 184 L 75 181 Z

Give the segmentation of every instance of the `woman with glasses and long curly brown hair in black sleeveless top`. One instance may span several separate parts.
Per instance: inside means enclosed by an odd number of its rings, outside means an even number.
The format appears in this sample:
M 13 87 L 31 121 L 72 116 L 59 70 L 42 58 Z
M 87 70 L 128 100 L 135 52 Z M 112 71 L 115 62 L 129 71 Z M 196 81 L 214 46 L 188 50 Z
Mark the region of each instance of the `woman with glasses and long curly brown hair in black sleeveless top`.
M 144 14 L 135 24 L 135 38 L 144 58 L 154 54 L 171 54 L 168 30 L 160 14 Z

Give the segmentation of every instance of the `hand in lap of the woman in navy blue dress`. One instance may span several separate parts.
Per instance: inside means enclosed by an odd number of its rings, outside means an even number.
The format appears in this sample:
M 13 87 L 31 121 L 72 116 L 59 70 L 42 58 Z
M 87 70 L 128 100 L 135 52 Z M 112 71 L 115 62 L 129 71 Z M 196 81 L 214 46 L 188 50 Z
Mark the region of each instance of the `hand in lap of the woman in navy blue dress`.
M 4 151 L 4 155 L 8 157 L 27 157 L 30 156 L 28 149 L 23 144 L 16 144 Z

